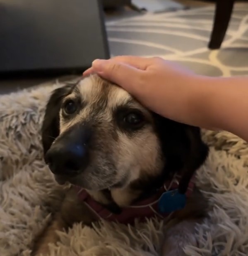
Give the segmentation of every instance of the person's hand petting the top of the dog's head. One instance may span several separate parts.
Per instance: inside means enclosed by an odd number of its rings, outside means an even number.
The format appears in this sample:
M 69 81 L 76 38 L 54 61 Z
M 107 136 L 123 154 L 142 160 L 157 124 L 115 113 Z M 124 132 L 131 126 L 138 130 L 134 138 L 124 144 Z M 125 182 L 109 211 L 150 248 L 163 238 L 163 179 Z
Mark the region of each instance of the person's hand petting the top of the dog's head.
M 162 116 L 197 125 L 192 119 L 192 108 L 197 107 L 198 76 L 182 66 L 159 57 L 119 56 L 95 60 L 83 75 L 91 73 L 123 87 L 144 106 Z

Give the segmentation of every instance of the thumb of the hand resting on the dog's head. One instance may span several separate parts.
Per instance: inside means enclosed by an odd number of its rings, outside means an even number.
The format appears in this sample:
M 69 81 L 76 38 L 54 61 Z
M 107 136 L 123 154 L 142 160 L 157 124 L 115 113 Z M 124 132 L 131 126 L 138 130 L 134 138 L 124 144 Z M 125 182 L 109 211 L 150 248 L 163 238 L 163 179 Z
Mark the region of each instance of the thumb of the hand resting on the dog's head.
M 112 59 L 96 59 L 92 62 L 92 68 L 99 76 L 118 84 L 131 94 L 138 84 L 142 70 Z M 136 91 L 136 90 L 135 90 Z

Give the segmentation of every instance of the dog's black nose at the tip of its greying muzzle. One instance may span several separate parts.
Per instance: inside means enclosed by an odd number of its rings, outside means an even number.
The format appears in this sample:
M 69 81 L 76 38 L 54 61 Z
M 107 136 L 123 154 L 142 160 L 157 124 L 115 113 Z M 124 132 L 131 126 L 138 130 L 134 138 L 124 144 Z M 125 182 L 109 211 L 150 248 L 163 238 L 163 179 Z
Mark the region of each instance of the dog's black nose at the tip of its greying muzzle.
M 77 175 L 84 167 L 86 149 L 80 144 L 56 143 L 46 153 L 45 161 L 57 175 Z

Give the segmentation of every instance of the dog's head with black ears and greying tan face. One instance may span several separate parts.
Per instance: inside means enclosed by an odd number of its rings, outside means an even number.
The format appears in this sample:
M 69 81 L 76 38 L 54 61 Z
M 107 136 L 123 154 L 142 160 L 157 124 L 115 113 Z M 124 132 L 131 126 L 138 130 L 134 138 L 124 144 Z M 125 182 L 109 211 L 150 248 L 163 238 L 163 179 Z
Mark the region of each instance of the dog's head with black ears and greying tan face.
M 198 128 L 152 113 L 96 75 L 53 92 L 42 140 L 55 179 L 87 190 L 148 189 L 174 172 L 183 190 L 207 156 Z

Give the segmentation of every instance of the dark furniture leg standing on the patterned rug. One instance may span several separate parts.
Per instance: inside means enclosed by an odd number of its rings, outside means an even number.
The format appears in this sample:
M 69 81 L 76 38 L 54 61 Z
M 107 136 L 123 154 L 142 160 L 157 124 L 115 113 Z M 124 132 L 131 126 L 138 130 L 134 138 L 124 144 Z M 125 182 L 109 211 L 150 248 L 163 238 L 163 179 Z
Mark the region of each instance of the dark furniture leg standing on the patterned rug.
M 235 0 L 216 0 L 214 25 L 209 49 L 219 49 L 225 37 Z

